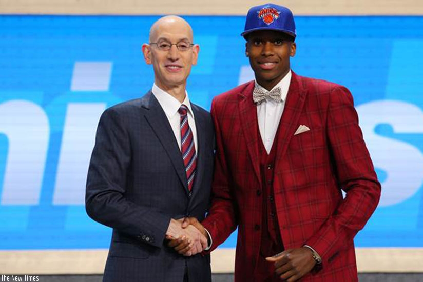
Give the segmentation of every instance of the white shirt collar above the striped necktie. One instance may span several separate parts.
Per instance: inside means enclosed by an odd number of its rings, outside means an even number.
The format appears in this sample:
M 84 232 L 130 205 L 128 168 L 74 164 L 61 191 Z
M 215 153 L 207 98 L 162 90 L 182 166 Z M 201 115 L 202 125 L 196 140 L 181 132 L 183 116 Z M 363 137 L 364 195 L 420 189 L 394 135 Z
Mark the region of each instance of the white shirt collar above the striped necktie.
M 194 118 L 193 109 L 191 109 L 191 103 L 189 102 L 188 93 L 185 90 L 185 99 L 183 102 L 179 102 L 177 98 L 170 95 L 166 91 L 160 89 L 156 84 L 153 84 L 151 92 L 159 101 L 160 106 L 162 106 L 163 111 L 168 118 L 172 118 L 175 114 L 178 113 L 179 108 L 184 104 L 188 108 L 189 115 Z M 178 113 L 179 114 L 179 113 Z

